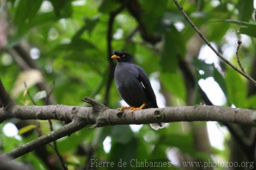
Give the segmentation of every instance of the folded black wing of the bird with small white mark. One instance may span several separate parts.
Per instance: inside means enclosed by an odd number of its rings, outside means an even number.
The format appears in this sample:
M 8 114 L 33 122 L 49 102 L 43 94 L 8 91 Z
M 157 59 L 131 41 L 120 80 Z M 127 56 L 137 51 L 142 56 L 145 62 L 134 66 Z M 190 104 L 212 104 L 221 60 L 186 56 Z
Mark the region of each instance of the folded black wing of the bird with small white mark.
M 157 106 L 157 100 L 156 100 L 156 95 L 154 94 L 154 90 L 152 89 L 152 86 L 150 84 L 148 75 L 146 72 L 141 68 L 140 66 L 136 65 L 136 68 L 138 70 L 138 76 L 137 79 L 140 81 L 141 86 L 143 87 L 147 98 L 151 102 L 151 107 L 158 107 Z

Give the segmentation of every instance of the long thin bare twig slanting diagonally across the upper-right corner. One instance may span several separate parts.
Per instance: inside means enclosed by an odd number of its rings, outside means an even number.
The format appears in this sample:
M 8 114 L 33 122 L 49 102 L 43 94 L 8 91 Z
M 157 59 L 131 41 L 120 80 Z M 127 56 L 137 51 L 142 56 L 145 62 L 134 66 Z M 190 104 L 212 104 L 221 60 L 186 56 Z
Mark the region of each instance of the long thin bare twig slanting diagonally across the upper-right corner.
M 229 66 L 231 66 L 234 70 L 236 70 L 237 72 L 239 72 L 241 75 L 243 75 L 245 78 L 247 78 L 254 86 L 256 86 L 256 81 L 253 80 L 253 78 L 251 78 L 249 75 L 245 74 L 244 72 L 242 72 L 241 70 L 239 70 L 236 66 L 234 66 L 232 63 L 230 63 L 230 61 L 228 61 L 226 58 L 223 57 L 223 55 L 221 55 L 221 53 L 219 53 L 213 46 L 211 43 L 209 43 L 209 41 L 206 39 L 206 37 L 204 37 L 204 35 L 199 31 L 199 29 L 195 26 L 195 24 L 189 19 L 189 17 L 187 16 L 186 12 L 183 10 L 183 8 L 180 6 L 180 4 L 177 2 L 177 0 L 173 0 L 175 5 L 177 6 L 177 8 L 180 10 L 180 12 L 183 14 L 184 18 L 189 22 L 189 24 L 192 26 L 193 29 L 195 29 L 195 31 L 198 33 L 198 35 L 202 38 L 202 40 L 204 40 L 204 42 L 207 44 L 207 46 L 209 46 L 213 52 L 215 52 L 215 54 L 221 58 L 221 60 L 223 60 L 225 63 L 227 63 Z

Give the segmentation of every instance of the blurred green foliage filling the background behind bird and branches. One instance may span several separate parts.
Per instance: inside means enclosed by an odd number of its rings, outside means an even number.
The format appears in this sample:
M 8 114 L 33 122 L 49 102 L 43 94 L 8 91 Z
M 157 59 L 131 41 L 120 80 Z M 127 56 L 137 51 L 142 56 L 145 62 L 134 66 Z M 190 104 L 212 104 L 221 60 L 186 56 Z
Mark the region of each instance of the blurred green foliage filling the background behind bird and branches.
M 236 40 L 242 40 L 241 63 L 256 79 L 253 0 L 179 3 L 236 66 Z M 255 86 L 212 55 L 172 0 L 2 0 L 1 4 L 2 19 L 4 13 L 7 17 L 1 20 L 6 32 L 0 34 L 7 35 L 7 43 L 0 53 L 0 77 L 18 104 L 33 105 L 29 90 L 37 105 L 85 106 L 81 98 L 90 96 L 111 108 L 120 107 L 113 82 L 115 61 L 109 58 L 114 50 L 122 50 L 131 53 L 148 73 L 162 107 L 213 103 L 256 108 Z M 53 121 L 54 129 L 62 125 Z M 249 127 L 238 128 L 244 130 L 244 138 L 250 135 Z M 0 124 L 0 129 L 0 150 L 7 152 L 49 133 L 49 124 L 11 119 Z M 70 170 L 88 169 L 91 158 L 171 161 L 172 167 L 162 169 L 173 170 L 193 169 L 184 167 L 182 161 L 250 159 L 223 124 L 205 122 L 170 123 L 158 131 L 148 125 L 84 128 L 57 144 Z M 38 170 L 61 169 L 49 145 L 17 161 Z

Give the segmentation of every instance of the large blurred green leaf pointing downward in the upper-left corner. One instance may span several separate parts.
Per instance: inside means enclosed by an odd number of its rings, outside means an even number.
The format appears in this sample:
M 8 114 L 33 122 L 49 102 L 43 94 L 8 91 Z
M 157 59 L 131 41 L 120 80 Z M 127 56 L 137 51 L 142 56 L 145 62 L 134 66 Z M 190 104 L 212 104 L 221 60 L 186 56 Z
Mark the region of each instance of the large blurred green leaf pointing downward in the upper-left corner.
M 20 0 L 16 10 L 14 22 L 16 23 L 19 32 L 22 32 L 26 26 L 36 16 L 38 10 L 40 9 L 43 0 Z

